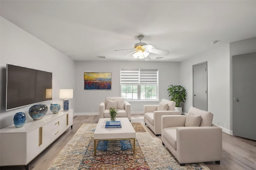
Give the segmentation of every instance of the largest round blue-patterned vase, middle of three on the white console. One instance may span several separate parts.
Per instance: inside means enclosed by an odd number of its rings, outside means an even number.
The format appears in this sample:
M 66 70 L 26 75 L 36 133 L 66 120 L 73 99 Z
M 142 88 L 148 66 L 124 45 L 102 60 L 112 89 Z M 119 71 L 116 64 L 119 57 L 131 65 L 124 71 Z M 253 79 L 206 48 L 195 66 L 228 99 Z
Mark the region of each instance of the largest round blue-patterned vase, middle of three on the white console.
M 42 119 L 48 111 L 48 107 L 45 104 L 36 104 L 29 108 L 28 114 L 32 119 Z

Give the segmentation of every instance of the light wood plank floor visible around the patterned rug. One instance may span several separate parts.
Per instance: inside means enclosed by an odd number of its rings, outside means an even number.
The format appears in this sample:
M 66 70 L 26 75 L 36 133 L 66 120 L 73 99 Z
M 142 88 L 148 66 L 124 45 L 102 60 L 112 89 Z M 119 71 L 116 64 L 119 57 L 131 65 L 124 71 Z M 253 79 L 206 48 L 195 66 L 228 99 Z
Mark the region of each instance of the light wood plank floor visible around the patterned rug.
M 75 116 L 73 119 L 73 129 L 68 129 L 52 145 L 45 149 L 32 162 L 29 163 L 30 170 L 47 170 L 52 164 L 58 152 L 74 136 L 83 123 L 98 123 L 98 115 Z M 132 122 L 144 123 L 143 114 L 133 114 Z M 148 129 L 148 127 L 146 127 Z M 156 137 L 150 129 L 148 132 L 152 137 Z M 161 136 L 158 137 L 161 139 Z M 205 162 L 210 170 L 256 170 L 256 141 L 236 137 L 222 133 L 222 155 L 220 164 L 215 162 Z M 1 170 L 24 170 L 24 166 L 0 167 Z

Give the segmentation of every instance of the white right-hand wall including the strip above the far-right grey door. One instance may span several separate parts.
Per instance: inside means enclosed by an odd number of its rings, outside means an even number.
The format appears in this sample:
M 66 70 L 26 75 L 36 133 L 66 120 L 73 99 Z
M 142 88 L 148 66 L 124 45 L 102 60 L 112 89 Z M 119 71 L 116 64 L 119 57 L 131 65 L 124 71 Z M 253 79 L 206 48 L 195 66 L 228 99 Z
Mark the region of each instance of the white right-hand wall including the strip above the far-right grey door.
M 232 134 L 232 56 L 256 52 L 256 38 L 216 47 L 180 63 L 180 84 L 188 92 L 183 111 L 192 106 L 192 65 L 208 62 L 208 111 L 226 133 Z M 227 124 L 227 128 L 224 128 Z

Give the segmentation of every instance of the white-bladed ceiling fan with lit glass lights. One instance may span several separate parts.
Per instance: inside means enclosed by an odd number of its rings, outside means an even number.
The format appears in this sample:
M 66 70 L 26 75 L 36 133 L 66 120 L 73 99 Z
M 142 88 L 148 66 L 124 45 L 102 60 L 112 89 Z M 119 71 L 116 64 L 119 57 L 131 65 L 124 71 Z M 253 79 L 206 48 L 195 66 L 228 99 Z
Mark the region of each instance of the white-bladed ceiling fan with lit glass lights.
M 130 53 L 128 55 L 131 55 L 134 53 L 133 54 L 134 58 L 144 59 L 144 58 L 148 57 L 149 53 L 154 53 L 154 54 L 159 54 L 159 55 L 168 55 L 169 54 L 169 51 L 156 49 L 156 47 L 154 47 L 151 44 L 147 45 L 146 43 L 142 43 L 141 41 L 144 38 L 143 35 L 138 35 L 137 38 L 138 38 L 138 40 L 140 40 L 140 42 L 134 44 L 135 51 L 133 51 L 132 53 Z M 130 49 L 123 49 L 123 50 L 130 50 Z M 115 50 L 115 51 L 122 51 L 122 50 Z M 122 57 L 121 59 L 124 59 L 128 55 Z M 148 58 L 150 58 L 150 57 L 148 57 Z

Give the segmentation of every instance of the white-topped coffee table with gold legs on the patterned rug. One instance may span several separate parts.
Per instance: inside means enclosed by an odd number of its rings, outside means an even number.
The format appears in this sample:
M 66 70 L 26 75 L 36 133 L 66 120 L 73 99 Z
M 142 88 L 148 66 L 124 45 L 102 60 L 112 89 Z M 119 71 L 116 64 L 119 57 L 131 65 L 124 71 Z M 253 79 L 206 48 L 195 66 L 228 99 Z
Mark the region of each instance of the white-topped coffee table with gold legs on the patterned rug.
M 94 155 L 96 155 L 96 141 L 107 140 L 133 140 L 133 153 L 135 153 L 136 132 L 128 118 L 116 118 L 121 121 L 121 128 L 105 128 L 106 121 L 110 118 L 99 119 L 94 131 Z

